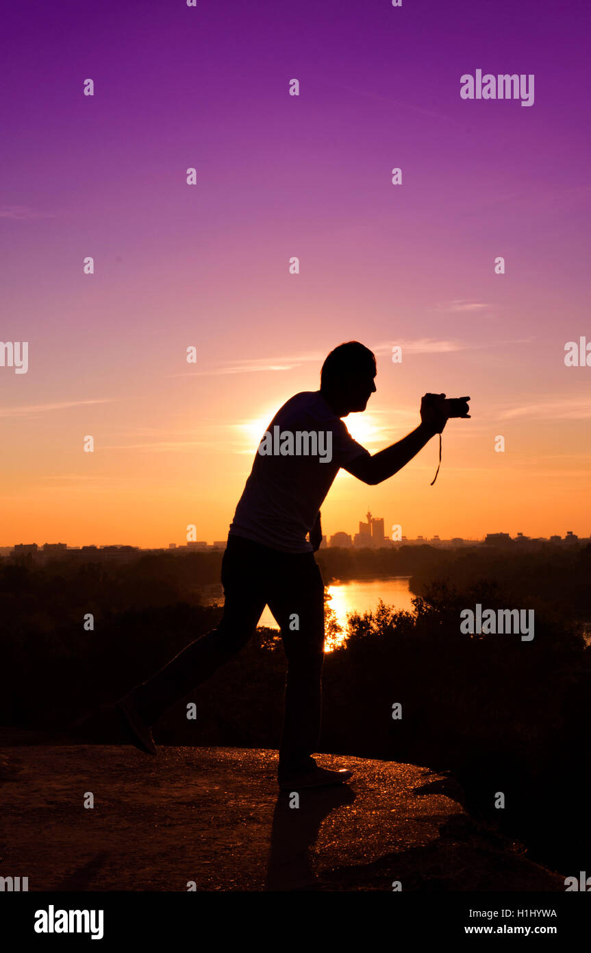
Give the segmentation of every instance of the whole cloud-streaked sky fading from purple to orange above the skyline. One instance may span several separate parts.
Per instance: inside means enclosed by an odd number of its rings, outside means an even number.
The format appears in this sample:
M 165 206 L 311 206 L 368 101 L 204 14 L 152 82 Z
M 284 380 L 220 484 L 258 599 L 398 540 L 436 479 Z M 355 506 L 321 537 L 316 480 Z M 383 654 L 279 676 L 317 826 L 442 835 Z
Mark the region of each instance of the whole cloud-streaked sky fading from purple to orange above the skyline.
M 369 449 L 404 436 L 426 390 L 472 394 L 475 417 L 449 436 L 455 482 L 419 499 L 421 518 L 410 482 L 395 505 L 392 486 L 368 499 L 344 477 L 329 532 L 371 503 L 408 535 L 565 521 L 589 535 L 591 368 L 562 361 L 566 341 L 591 340 L 589 10 L 10 5 L 0 337 L 30 341 L 30 371 L 0 368 L 13 520 L 0 543 L 148 545 L 182 541 L 188 522 L 223 538 L 249 466 L 228 428 L 315 388 L 322 356 L 350 337 L 382 347 Z M 464 101 L 476 69 L 533 73 L 535 104 Z M 415 358 L 396 371 L 399 341 Z M 289 371 L 255 370 L 279 358 Z

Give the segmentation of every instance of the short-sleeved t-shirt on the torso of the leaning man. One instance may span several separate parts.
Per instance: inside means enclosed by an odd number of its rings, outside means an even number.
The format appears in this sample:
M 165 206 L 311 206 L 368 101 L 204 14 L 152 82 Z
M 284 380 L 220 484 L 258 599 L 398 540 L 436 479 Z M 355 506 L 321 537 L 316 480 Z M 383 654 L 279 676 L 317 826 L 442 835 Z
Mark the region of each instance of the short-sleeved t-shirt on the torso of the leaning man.
M 312 546 L 305 535 L 335 476 L 367 451 L 320 391 L 291 397 L 266 433 L 229 532 L 284 553 L 309 553 Z

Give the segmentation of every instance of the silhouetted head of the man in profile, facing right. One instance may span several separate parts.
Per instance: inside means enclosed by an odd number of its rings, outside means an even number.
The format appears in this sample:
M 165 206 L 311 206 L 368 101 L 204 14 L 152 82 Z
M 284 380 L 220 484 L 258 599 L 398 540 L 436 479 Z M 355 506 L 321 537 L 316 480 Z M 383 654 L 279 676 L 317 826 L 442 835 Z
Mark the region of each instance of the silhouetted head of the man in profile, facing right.
M 339 344 L 326 357 L 320 390 L 337 416 L 364 411 L 375 393 L 376 358 L 359 341 Z

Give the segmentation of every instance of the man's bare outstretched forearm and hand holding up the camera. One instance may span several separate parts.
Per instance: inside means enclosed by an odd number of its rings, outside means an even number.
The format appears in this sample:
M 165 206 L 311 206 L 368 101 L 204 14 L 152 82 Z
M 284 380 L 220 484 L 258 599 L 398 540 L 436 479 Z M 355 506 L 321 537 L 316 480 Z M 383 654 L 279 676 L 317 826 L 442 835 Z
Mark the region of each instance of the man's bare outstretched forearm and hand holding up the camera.
M 399 470 L 423 450 L 425 443 L 435 434 L 441 434 L 447 422 L 444 410 L 444 394 L 439 395 L 440 401 L 436 405 L 427 405 L 421 402 L 421 423 L 410 434 L 403 437 L 391 447 L 386 447 L 379 454 L 373 456 L 356 456 L 345 465 L 345 470 L 352 476 L 374 486 L 382 483 L 389 476 L 394 476 Z

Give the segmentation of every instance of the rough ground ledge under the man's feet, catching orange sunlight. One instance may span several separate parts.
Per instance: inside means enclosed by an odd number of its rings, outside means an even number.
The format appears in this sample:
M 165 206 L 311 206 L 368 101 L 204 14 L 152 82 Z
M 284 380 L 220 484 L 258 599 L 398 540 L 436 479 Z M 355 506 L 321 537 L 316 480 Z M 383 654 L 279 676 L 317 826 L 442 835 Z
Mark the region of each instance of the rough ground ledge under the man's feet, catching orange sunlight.
M 0 875 L 30 890 L 564 889 L 415 765 L 319 755 L 354 779 L 296 806 L 274 751 L 9 744 Z

